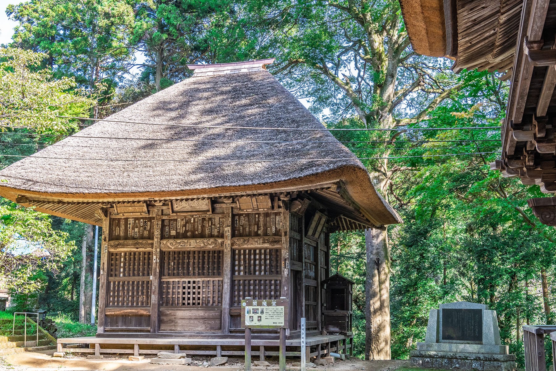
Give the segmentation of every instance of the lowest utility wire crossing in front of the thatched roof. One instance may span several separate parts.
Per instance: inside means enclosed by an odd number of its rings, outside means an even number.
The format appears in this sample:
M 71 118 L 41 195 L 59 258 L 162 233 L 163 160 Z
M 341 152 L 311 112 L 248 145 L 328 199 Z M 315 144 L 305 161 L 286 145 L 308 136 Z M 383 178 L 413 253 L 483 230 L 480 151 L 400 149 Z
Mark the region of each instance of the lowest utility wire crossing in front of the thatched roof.
M 76 157 L 47 157 L 47 156 L 23 156 L 23 155 L 3 155 L 4 157 L 33 157 L 35 159 L 50 160 L 88 160 L 88 161 L 130 161 L 130 162 L 297 162 L 297 161 L 342 161 L 342 160 L 390 160 L 390 159 L 409 159 L 414 157 L 443 157 L 443 156 L 463 156 L 463 155 L 485 155 L 497 154 L 499 152 L 472 152 L 465 154 L 446 154 L 446 155 L 423 155 L 423 156 L 395 156 L 395 157 L 342 157 L 339 159 L 282 159 L 282 160 L 128 160 L 128 159 L 80 159 Z

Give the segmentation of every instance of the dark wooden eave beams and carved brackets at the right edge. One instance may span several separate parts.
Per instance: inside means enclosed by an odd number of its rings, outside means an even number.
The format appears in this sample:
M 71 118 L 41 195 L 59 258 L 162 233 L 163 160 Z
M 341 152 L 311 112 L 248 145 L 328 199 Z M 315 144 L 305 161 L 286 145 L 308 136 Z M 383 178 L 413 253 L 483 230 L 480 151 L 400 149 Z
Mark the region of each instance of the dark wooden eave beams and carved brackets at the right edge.
M 556 2 L 526 0 L 519 24 L 512 84 L 502 125 L 502 158 L 491 164 L 524 185 L 556 192 Z M 556 225 L 556 199 L 530 199 L 543 224 Z

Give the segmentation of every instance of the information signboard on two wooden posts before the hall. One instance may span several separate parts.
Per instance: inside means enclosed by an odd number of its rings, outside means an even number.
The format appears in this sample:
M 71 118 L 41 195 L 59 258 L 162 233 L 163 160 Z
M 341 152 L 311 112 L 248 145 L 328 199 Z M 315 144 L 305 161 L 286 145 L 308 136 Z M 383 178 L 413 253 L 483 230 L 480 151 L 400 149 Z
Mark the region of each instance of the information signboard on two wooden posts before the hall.
M 241 327 L 245 328 L 245 371 L 251 371 L 251 329 L 280 329 L 280 371 L 286 370 L 286 329 L 289 317 L 286 298 L 241 300 Z

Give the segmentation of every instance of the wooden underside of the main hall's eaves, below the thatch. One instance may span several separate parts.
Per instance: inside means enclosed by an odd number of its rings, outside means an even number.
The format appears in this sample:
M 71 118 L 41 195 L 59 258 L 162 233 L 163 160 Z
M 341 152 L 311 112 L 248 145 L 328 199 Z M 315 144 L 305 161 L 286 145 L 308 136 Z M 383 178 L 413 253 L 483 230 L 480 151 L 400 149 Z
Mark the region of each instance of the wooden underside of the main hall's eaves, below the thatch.
M 107 211 L 114 210 L 114 207 L 122 204 L 122 202 L 143 202 L 145 205 L 159 205 L 168 209 L 171 200 L 211 199 L 212 203 L 219 204 L 220 206 L 226 206 L 226 203 L 229 203 L 228 206 L 235 207 L 235 203 L 232 203 L 232 196 L 260 194 L 267 194 L 281 199 L 294 199 L 301 195 L 303 197 L 310 197 L 314 202 L 320 204 L 323 209 L 328 210 L 332 231 L 364 230 L 370 227 L 382 227 L 373 215 L 362 209 L 353 200 L 349 192 L 347 192 L 344 182 L 341 180 L 313 186 L 292 187 L 291 189 L 207 194 L 198 197 L 106 197 L 105 199 L 87 201 L 68 197 L 54 198 L 41 195 L 19 194 L 14 201 L 27 207 L 34 207 L 37 211 L 45 212 L 46 214 L 102 226 Z M 174 214 L 171 210 L 168 213 Z M 147 216 L 149 211 L 145 210 L 144 213 L 136 213 L 136 216 L 141 215 Z

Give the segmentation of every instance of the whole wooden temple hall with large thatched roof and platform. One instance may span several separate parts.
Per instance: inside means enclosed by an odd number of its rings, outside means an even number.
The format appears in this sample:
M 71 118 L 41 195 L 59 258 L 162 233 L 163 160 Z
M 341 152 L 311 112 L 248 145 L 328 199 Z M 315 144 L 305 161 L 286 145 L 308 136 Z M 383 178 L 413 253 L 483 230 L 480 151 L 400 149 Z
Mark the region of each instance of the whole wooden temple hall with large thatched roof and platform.
M 247 296 L 291 300 L 289 345 L 305 317 L 307 352 L 349 348 L 351 328 L 322 335 L 330 233 L 401 220 L 271 62 L 190 66 L 193 77 L 0 171 L 0 195 L 102 226 L 97 337 L 61 348 L 235 354 L 222 347 L 243 344 Z M 257 342 L 271 354 L 277 332 Z

